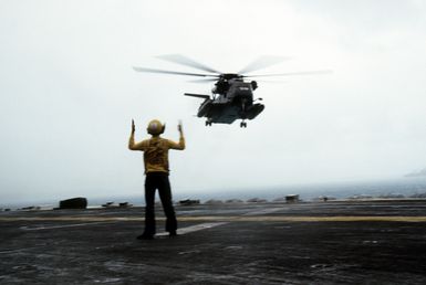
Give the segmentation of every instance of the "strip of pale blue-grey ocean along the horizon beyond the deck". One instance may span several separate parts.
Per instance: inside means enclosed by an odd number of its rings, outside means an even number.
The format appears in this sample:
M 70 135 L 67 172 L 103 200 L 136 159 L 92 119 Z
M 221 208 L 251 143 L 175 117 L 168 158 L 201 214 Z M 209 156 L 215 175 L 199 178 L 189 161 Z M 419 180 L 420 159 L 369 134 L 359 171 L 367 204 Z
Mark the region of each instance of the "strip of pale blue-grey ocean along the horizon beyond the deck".
M 249 199 L 261 199 L 273 201 L 284 198 L 288 194 L 299 194 L 302 201 L 312 201 L 320 197 L 331 199 L 346 198 L 426 198 L 426 177 L 411 177 L 393 180 L 375 180 L 375 181 L 351 181 L 351 182 L 330 182 L 330 183 L 310 183 L 310 184 L 292 184 L 292 186 L 273 186 L 264 188 L 245 188 L 245 189 L 211 189 L 196 191 L 185 191 L 183 189 L 174 189 L 173 198 L 175 202 L 185 199 L 200 200 L 206 202 L 209 200 L 227 200 L 237 199 L 247 201 Z M 66 197 L 69 199 L 72 197 Z M 98 207 L 107 202 L 114 204 L 128 202 L 133 205 L 144 205 L 143 188 L 139 194 L 133 196 L 114 196 L 114 197 L 90 197 L 87 196 L 89 207 Z M 156 197 L 158 201 L 158 194 Z M 20 201 L 15 203 L 0 204 L 0 209 L 21 209 L 24 207 L 41 207 L 42 209 L 52 209 L 59 207 L 59 201 Z

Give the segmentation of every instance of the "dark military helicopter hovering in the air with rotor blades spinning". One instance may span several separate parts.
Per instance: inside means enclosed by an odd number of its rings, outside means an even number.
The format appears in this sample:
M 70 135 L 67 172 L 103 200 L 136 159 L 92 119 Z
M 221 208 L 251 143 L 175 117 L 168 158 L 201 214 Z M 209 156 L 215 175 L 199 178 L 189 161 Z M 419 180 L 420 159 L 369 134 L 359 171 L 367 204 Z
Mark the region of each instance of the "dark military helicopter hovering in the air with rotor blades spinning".
M 240 127 L 246 128 L 247 119 L 254 119 L 260 113 L 263 112 L 264 105 L 257 103 L 258 101 L 262 101 L 262 98 L 254 98 L 253 96 L 253 91 L 258 88 L 258 83 L 256 81 L 246 81 L 247 78 L 264 76 L 309 75 L 330 72 L 309 71 L 281 74 L 247 75 L 249 72 L 268 67 L 288 59 L 279 56 L 261 56 L 251 62 L 245 68 L 240 70 L 238 73 L 221 73 L 180 54 L 168 54 L 157 57 L 177 64 L 190 66 L 207 72 L 208 74 L 165 71 L 137 66 L 134 66 L 133 70 L 136 72 L 206 77 L 204 80 L 194 82 L 215 82 L 215 85 L 211 89 L 211 95 L 194 93 L 184 94 L 186 96 L 204 99 L 198 108 L 197 117 L 206 117 L 206 126 L 211 126 L 212 124 L 232 124 L 235 120 L 241 119 Z

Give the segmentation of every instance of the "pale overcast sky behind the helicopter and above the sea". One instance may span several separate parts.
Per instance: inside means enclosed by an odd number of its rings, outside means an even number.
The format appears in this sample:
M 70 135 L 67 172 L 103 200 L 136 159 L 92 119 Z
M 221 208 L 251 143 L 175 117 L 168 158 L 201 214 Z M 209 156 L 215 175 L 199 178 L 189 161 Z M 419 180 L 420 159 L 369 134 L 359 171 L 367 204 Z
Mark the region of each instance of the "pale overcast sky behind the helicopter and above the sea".
M 426 166 L 426 2 L 0 1 L 0 201 L 143 192 L 152 118 L 170 152 L 175 193 L 399 178 Z M 258 73 L 333 70 L 261 82 L 266 109 L 248 127 L 194 115 L 211 84 L 136 73 L 221 72 L 261 55 L 291 60 Z

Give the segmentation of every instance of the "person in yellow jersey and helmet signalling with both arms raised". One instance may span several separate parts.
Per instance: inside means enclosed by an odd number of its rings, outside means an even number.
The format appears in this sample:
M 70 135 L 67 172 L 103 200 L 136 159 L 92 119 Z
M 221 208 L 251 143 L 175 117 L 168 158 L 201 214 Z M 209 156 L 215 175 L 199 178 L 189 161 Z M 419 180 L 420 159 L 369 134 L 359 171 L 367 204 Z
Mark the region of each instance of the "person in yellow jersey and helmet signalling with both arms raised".
M 179 142 L 162 138 L 166 125 L 159 120 L 153 119 L 149 122 L 147 133 L 152 135 L 149 139 L 142 140 L 135 144 L 135 122 L 132 119 L 132 134 L 128 140 L 128 149 L 144 151 L 145 165 L 145 230 L 137 239 L 152 240 L 156 233 L 155 225 L 155 191 L 158 189 L 158 194 L 162 200 L 164 213 L 166 215 L 166 231 L 169 236 L 176 235 L 177 220 L 175 209 L 172 202 L 172 189 L 168 180 L 168 150 L 185 149 L 185 138 L 181 123 L 178 125 Z

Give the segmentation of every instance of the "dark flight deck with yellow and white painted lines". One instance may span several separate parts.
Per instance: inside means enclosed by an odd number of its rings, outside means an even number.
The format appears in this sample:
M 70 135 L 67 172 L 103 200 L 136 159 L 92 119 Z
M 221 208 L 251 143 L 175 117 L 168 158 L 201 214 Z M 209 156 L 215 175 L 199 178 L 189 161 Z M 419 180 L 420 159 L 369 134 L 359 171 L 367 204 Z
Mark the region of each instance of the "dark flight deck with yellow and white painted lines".
M 1 284 L 425 284 L 426 200 L 0 213 Z

